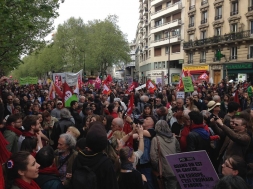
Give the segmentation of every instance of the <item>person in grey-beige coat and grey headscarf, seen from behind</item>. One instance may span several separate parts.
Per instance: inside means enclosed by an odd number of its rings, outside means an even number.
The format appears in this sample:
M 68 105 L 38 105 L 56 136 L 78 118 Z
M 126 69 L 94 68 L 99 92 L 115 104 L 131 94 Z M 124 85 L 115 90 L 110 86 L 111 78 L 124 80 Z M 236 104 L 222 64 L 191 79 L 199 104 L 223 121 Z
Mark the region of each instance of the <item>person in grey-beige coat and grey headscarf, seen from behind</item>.
M 163 166 L 162 177 L 164 178 L 164 182 L 166 183 L 166 189 L 176 189 L 177 179 L 165 156 L 181 152 L 179 142 L 171 132 L 168 123 L 164 120 L 159 120 L 156 123 L 155 131 L 156 137 L 152 139 L 150 148 L 150 158 L 152 166 L 155 170 L 159 172 L 160 159 L 161 164 Z

